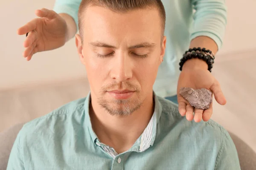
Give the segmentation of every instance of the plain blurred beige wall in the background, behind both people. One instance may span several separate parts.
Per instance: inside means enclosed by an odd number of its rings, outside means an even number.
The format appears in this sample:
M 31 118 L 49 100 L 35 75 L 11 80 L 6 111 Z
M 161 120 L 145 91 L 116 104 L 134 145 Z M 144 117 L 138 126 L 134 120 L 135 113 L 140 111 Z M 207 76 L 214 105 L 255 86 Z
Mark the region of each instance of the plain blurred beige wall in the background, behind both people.
M 227 31 L 218 55 L 256 49 L 256 1 L 226 3 Z M 35 54 L 29 62 L 22 56 L 25 36 L 18 36 L 17 28 L 32 20 L 36 9 L 52 9 L 53 4 L 54 0 L 1 0 L 0 90 L 86 76 L 74 38 L 57 50 Z

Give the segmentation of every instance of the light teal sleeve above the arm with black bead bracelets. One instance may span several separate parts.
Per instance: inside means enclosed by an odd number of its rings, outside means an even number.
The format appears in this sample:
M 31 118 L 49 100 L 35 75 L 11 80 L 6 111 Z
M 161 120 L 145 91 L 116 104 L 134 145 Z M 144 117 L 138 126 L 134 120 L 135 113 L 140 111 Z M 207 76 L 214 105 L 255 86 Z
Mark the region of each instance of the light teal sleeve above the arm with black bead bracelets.
M 222 47 L 224 32 L 227 25 L 227 6 L 225 0 L 191 0 L 194 13 L 194 24 L 190 40 L 198 36 L 212 38 Z

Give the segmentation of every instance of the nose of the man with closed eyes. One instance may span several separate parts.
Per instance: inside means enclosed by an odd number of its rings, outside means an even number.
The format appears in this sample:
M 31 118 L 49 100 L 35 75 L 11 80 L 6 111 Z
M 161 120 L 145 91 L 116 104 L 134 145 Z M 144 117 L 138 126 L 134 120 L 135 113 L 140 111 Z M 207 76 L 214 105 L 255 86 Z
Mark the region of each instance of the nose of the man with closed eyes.
M 120 53 L 113 57 L 111 78 L 123 82 L 132 77 L 133 62 L 128 54 Z

